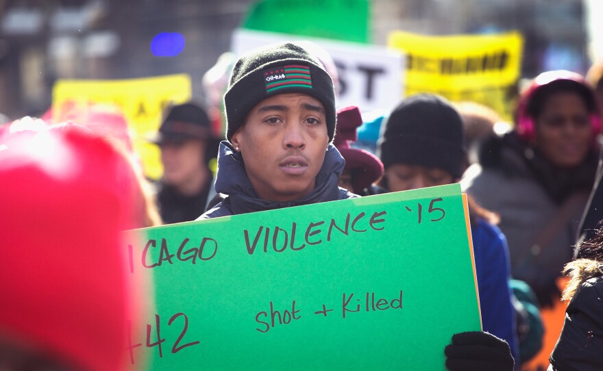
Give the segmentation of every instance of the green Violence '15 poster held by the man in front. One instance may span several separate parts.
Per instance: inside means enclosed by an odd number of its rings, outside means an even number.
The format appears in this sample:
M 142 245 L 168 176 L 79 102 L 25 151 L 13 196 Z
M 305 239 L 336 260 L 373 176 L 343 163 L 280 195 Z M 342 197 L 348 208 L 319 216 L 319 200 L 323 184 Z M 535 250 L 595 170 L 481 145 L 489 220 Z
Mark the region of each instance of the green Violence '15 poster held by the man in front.
M 444 370 L 480 314 L 458 184 L 128 231 L 151 370 Z M 145 324 L 148 324 L 145 326 Z

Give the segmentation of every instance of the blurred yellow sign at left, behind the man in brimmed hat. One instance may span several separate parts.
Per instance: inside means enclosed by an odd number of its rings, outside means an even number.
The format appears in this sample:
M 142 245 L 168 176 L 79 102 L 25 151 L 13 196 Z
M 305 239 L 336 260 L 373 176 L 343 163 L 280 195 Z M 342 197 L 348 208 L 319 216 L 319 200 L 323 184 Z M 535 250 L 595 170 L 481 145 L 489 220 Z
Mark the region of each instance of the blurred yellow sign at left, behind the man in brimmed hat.
M 121 109 L 140 156 L 145 175 L 158 179 L 162 173 L 157 146 L 145 140 L 159 129 L 162 113 L 171 103 L 184 103 L 192 94 L 188 75 L 167 75 L 122 80 L 58 80 L 53 86 L 52 117 L 54 122 L 86 116 L 89 108 L 109 103 Z M 81 123 L 85 125 L 86 123 Z

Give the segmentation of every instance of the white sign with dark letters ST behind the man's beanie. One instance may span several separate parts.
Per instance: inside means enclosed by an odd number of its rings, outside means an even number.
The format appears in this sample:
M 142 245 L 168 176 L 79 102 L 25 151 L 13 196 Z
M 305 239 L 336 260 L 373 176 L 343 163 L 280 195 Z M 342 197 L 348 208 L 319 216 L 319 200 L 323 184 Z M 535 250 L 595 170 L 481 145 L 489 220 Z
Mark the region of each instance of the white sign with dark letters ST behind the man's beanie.
M 241 55 L 263 45 L 291 40 L 315 42 L 333 58 L 339 73 L 338 107 L 357 105 L 363 112 L 388 110 L 402 98 L 404 56 L 395 49 L 247 29 L 234 31 L 231 49 Z

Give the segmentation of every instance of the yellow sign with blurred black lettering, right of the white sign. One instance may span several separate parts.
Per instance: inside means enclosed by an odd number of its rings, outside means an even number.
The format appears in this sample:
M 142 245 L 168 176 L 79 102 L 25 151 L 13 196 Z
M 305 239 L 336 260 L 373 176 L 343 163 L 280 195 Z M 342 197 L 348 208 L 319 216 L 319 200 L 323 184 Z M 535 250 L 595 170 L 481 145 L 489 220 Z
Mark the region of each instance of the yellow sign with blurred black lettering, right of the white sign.
M 406 53 L 406 95 L 434 92 L 451 101 L 474 101 L 507 120 L 523 43 L 519 32 L 425 36 L 394 31 L 388 40 L 389 47 Z

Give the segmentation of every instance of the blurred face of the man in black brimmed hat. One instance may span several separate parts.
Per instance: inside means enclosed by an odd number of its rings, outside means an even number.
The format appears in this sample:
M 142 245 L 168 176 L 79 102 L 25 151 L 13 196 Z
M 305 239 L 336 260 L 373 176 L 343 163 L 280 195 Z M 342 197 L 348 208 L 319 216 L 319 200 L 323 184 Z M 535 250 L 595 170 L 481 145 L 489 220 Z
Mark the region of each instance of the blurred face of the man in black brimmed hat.
M 179 187 L 204 172 L 206 143 L 203 140 L 165 141 L 161 144 L 161 162 L 168 184 Z

